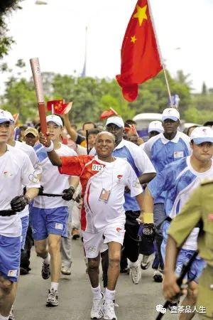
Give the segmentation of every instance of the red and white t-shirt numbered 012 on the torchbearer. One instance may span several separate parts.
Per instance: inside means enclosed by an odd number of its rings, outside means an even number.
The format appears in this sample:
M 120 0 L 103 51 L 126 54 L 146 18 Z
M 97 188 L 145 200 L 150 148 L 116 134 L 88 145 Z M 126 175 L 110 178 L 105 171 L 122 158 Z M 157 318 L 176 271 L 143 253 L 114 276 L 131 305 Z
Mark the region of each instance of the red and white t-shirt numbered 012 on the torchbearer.
M 131 165 L 124 159 L 104 162 L 97 156 L 62 158 L 62 174 L 77 174 L 82 183 L 84 206 L 82 230 L 98 233 L 109 223 L 125 223 L 124 188 L 128 186 L 131 197 L 142 193 L 141 184 Z M 107 202 L 100 201 L 102 191 L 109 191 Z

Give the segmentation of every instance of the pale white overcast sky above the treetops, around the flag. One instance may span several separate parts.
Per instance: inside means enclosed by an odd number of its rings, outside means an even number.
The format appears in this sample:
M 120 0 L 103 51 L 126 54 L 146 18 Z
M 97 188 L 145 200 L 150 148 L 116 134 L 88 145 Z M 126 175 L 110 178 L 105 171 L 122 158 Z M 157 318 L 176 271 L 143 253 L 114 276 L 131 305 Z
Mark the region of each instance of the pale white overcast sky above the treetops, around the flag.
M 9 17 L 16 40 L 9 56 L 11 68 L 22 58 L 31 75 L 29 58 L 39 57 L 42 71 L 82 72 L 85 27 L 87 75 L 114 78 L 120 71 L 120 49 L 136 0 L 24 0 L 22 10 Z M 172 75 L 190 73 L 195 90 L 202 82 L 213 87 L 213 0 L 150 0 L 163 58 Z M 178 48 L 178 49 L 177 49 Z M 0 78 L 0 92 L 5 75 Z

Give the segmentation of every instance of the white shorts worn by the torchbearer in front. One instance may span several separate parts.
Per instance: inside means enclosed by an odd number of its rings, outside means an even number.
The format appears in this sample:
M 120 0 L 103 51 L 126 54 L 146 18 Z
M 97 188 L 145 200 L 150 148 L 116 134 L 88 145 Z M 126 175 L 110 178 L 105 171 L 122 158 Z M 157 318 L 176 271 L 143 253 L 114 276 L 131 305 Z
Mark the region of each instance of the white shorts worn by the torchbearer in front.
M 87 258 L 95 258 L 99 255 L 99 252 L 104 252 L 108 249 L 107 243 L 119 242 L 123 245 L 125 229 L 124 224 L 111 224 L 99 232 L 99 233 L 88 233 L 82 231 L 84 250 Z

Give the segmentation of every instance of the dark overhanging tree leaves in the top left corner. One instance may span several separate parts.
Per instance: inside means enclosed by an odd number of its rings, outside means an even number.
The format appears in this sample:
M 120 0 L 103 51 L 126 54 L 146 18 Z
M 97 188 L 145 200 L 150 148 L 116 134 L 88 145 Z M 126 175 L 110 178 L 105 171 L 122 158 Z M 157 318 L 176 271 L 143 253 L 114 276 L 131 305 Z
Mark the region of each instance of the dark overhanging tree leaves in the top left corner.
M 14 43 L 13 38 L 7 36 L 8 28 L 5 18 L 8 14 L 16 9 L 21 9 L 18 3 L 21 0 L 4 0 L 0 1 L 0 59 L 9 53 L 9 48 Z

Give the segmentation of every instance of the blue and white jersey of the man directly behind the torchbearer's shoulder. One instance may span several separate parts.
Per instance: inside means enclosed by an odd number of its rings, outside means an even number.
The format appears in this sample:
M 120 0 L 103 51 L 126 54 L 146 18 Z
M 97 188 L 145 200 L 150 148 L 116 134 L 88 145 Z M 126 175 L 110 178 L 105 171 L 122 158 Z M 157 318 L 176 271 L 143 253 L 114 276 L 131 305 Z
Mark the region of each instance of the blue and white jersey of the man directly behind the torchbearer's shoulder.
M 131 167 L 136 173 L 136 176 L 139 177 L 141 174 L 148 174 L 156 172 L 153 164 L 151 164 L 150 159 L 146 153 L 136 144 L 126 141 L 124 139 L 115 147 L 112 152 L 113 156 L 117 158 L 123 158 L 131 164 Z M 125 203 L 124 210 L 138 211 L 140 210 L 136 198 L 131 198 L 130 193 L 125 193 Z

